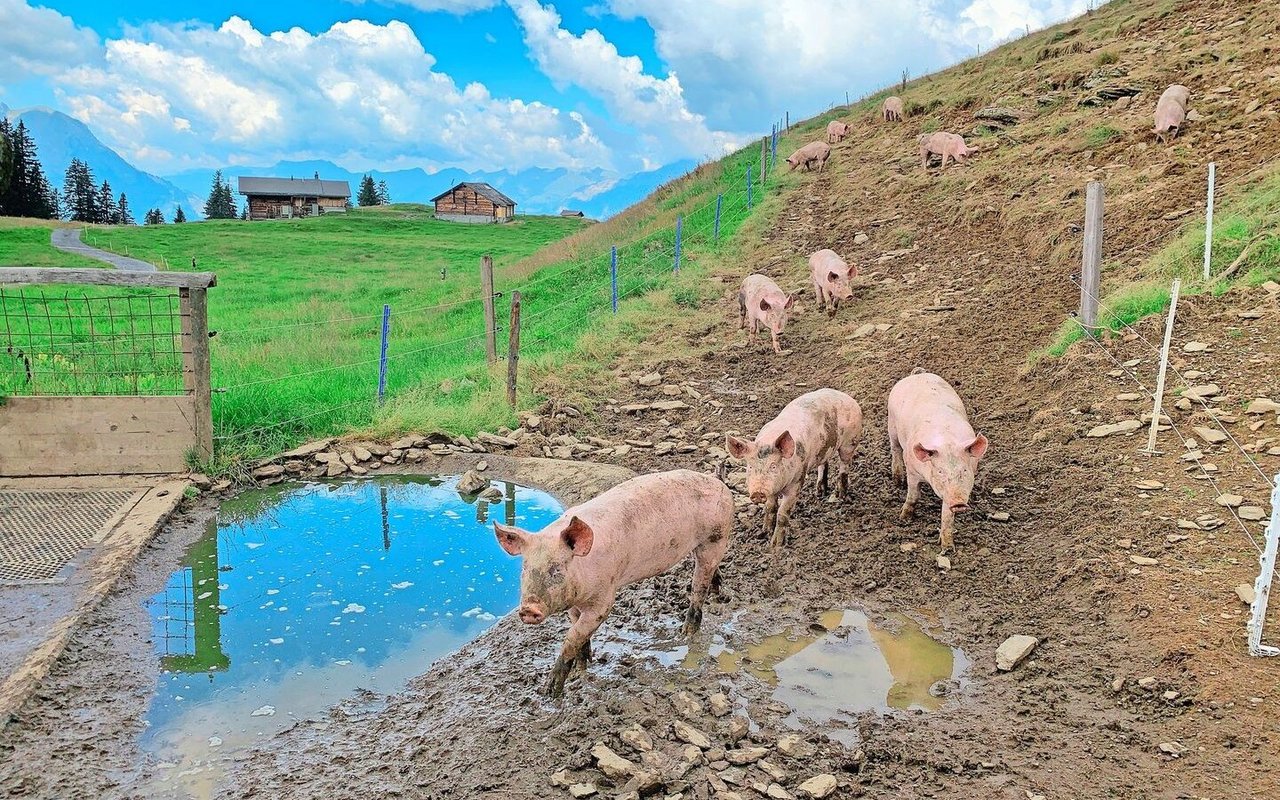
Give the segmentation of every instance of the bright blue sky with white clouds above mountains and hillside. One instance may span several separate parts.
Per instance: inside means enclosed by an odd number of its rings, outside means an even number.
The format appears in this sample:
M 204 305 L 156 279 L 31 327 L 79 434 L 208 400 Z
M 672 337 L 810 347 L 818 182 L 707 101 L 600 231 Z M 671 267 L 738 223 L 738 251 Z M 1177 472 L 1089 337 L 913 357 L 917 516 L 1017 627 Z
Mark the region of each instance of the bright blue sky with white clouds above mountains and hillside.
M 708 160 L 1089 0 L 0 0 L 0 101 L 156 174 Z

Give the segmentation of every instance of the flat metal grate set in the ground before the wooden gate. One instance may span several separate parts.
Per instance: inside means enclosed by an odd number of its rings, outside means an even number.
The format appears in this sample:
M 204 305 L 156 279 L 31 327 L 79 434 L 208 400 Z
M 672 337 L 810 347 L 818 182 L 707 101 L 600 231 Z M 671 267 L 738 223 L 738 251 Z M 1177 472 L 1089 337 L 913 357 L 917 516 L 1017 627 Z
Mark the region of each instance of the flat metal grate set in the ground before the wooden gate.
M 0 489 L 0 582 L 49 582 L 99 541 L 143 493 L 136 489 Z

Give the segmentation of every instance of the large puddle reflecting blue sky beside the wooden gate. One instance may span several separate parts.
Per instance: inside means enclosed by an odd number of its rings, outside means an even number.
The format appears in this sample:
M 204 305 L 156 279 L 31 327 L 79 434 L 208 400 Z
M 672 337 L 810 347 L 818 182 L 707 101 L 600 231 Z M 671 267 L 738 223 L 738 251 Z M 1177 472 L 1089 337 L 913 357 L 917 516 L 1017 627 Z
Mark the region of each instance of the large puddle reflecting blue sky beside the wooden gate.
M 161 675 L 142 746 L 155 796 L 210 796 L 225 760 L 330 707 L 392 692 L 515 607 L 520 562 L 489 527 L 538 529 L 550 495 L 453 477 L 275 486 L 224 503 L 147 602 Z

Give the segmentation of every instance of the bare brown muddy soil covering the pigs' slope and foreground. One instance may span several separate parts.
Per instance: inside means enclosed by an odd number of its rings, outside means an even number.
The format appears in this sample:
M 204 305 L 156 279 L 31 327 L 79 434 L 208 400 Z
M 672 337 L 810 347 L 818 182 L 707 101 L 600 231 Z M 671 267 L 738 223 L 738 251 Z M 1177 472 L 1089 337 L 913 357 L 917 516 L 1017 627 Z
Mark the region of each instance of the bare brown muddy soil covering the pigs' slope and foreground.
M 1238 47 L 1233 59 L 1196 61 L 1197 86 L 1234 84 L 1231 102 L 1242 106 L 1247 92 L 1274 91 L 1266 77 L 1274 67 L 1257 26 L 1229 28 L 1263 4 L 1112 5 L 1098 15 L 1179 9 L 1125 28 L 1116 38 L 1121 58 L 1146 63 L 1139 55 L 1148 47 L 1176 50 L 1180 45 L 1170 42 L 1181 42 L 1188 26 L 1212 31 L 1215 47 L 1230 36 L 1222 32 L 1234 31 L 1249 46 Z M 1220 8 L 1225 5 L 1230 9 Z M 1028 65 L 1011 74 L 1010 86 L 1030 91 L 1039 81 L 1037 69 L 1092 69 L 1088 47 L 1064 52 L 1078 59 Z M 1140 69 L 1151 68 L 1134 67 Z M 1143 79 L 1155 86 L 1157 78 L 1167 84 L 1174 77 L 1151 72 Z M 1277 796 L 1280 663 L 1244 654 L 1247 609 L 1234 593 L 1256 575 L 1248 535 L 1261 541 L 1262 529 L 1248 522 L 1245 532 L 1215 503 L 1220 488 L 1266 506 L 1262 476 L 1230 442 L 1204 445 L 1206 461 L 1217 467 L 1215 486 L 1187 470 L 1179 460 L 1187 448 L 1172 431 L 1161 434 L 1165 454 L 1157 457 L 1138 454 L 1143 434 L 1084 436 L 1097 425 L 1138 419 L 1147 408 L 1116 396 L 1142 392 L 1139 383 L 1153 385 L 1148 340 L 1158 340 L 1160 320 L 1137 325 L 1128 337 L 1076 344 L 1060 360 L 1034 366 L 1028 360 L 1076 305 L 1079 289 L 1070 280 L 1079 255 L 1079 230 L 1071 225 L 1083 206 L 1076 187 L 1100 168 L 1108 192 L 1115 187 L 1128 198 L 1108 211 L 1108 252 L 1124 252 L 1132 264 L 1158 246 L 1147 239 L 1167 225 L 1160 221 L 1164 215 L 1199 192 L 1199 166 L 1170 169 L 1174 152 L 1179 159 L 1193 152 L 1197 165 L 1216 160 L 1220 174 L 1242 174 L 1280 155 L 1280 138 L 1263 136 L 1275 132 L 1275 118 L 1239 114 L 1189 125 L 1180 150 L 1151 147 L 1142 125 L 1149 125 L 1157 93 L 1142 96 L 1139 110 L 1124 118 L 1130 133 L 1105 152 L 1036 154 L 1016 138 L 1001 138 L 991 152 L 984 148 L 969 166 L 942 177 L 936 170 L 925 175 L 911 157 L 918 127 L 910 120 L 882 125 L 855 119 L 865 134 L 837 146 L 826 173 L 804 177 L 782 197 L 776 223 L 759 232 L 741 264 L 716 268 L 721 298 L 666 320 L 662 332 L 637 342 L 613 385 L 586 390 L 604 396 L 594 410 L 579 416 L 554 402 L 544 410 L 547 433 L 580 440 L 699 443 L 701 434 L 714 434 L 692 452 L 676 448 L 658 456 L 636 447 L 607 457 L 643 472 L 714 468 L 713 448 L 724 433 L 754 433 L 809 389 L 836 387 L 858 398 L 865 434 L 852 500 L 827 503 L 810 490 L 782 554 L 768 550 L 759 515 L 744 512 L 722 567 L 721 596 L 709 603 L 701 635 L 733 620 L 731 644 L 741 649 L 803 627 L 831 608 L 860 608 L 873 620 L 906 612 L 972 660 L 963 687 L 941 710 L 864 714 L 854 750 L 814 730 L 803 731 L 815 746 L 813 755 L 777 750 L 791 732 L 782 722 L 788 709 L 771 699 L 767 685 L 745 675 L 728 678 L 713 663 L 685 669 L 653 657 L 654 643 L 676 639 L 686 564 L 622 593 L 598 635 L 608 645 L 598 648 L 607 658 L 589 675 L 575 675 L 562 703 L 545 700 L 539 687 L 566 621 L 526 627 L 506 618 L 403 692 L 353 699 L 324 719 L 301 722 L 262 742 L 237 765 L 225 796 L 567 797 L 549 782 L 561 769 L 594 782 L 604 796 L 626 796 L 626 781 L 604 777 L 590 755 L 605 742 L 662 773 L 668 795 L 710 797 L 723 767 L 701 762 L 714 762 L 722 756 L 717 749 L 733 744 L 728 718 L 707 708 L 717 691 L 750 716 L 756 727 L 748 739 L 771 749 L 769 759 L 788 773 L 782 783 L 792 794 L 800 781 L 831 773 L 838 780 L 832 796 L 840 797 Z M 952 128 L 972 124 L 965 109 L 943 113 Z M 1155 174 L 1164 188 L 1142 191 L 1139 202 L 1133 192 Z M 959 200 L 948 205 L 947 193 Z M 886 218 L 896 221 L 872 224 Z M 854 244 L 859 232 L 869 234 L 867 244 Z M 783 356 L 772 355 L 764 337 L 744 346 L 736 330 L 742 274 L 763 271 L 783 288 L 801 291 L 804 257 L 820 247 L 860 265 L 854 302 L 835 320 L 812 302 L 801 303 L 783 334 L 790 348 Z M 925 310 L 937 306 L 955 310 Z M 1243 320 L 1243 310 L 1261 316 Z M 890 328 L 855 337 L 865 323 Z M 1257 449 L 1266 472 L 1280 467 L 1280 460 L 1263 454 L 1266 444 L 1257 448 L 1260 438 L 1276 435 L 1275 415 L 1247 417 L 1239 408 L 1254 397 L 1275 397 L 1280 298 L 1263 289 L 1197 297 L 1180 306 L 1178 332 L 1180 343 L 1196 339 L 1211 347 L 1180 356 L 1175 366 L 1219 383 L 1222 397 L 1213 404 L 1239 417 L 1225 422 L 1228 430 Z M 1123 366 L 1134 358 L 1139 364 Z M 975 509 L 959 520 L 957 552 L 947 571 L 936 566 L 938 506 L 928 493 L 914 522 L 896 522 L 902 490 L 890 479 L 883 398 L 916 366 L 951 380 L 992 442 Z M 631 380 L 652 370 L 662 374 L 663 385 L 694 388 L 701 399 L 686 392 L 689 408 L 623 412 L 627 403 L 668 399 L 662 387 Z M 1175 379 L 1171 392 L 1178 387 Z M 1194 436 L 1193 425 L 1212 425 L 1203 408 L 1166 410 L 1184 435 Z M 1263 426 L 1249 430 L 1253 421 Z M 541 439 L 526 442 L 522 451 L 536 454 Z M 739 479 L 731 475 L 730 483 Z M 1164 488 L 1142 492 L 1135 488 L 1140 480 Z M 1007 513 L 1007 521 L 992 518 L 997 512 Z M 0 733 L 5 791 L 127 796 L 137 785 L 128 748 L 113 742 L 137 735 L 154 684 L 138 598 L 207 513 L 201 506 L 175 521 L 140 566 L 138 586 L 102 607 L 22 719 Z M 1213 531 L 1176 527 L 1176 520 L 1203 513 L 1228 525 Z M 906 553 L 904 543 L 918 547 Z M 1132 556 L 1158 563 L 1135 566 Z M 1275 641 L 1275 613 L 1268 630 Z M 1039 648 L 1015 671 L 996 672 L 993 652 L 1014 634 L 1037 636 Z M 682 745 L 672 730 L 681 716 L 713 739 L 687 769 L 677 765 Z M 620 731 L 634 724 L 648 730 L 663 755 L 643 758 L 622 742 Z M 763 787 L 768 780 L 758 767 L 746 772 L 748 783 L 762 781 Z M 758 796 L 750 788 L 736 791 Z

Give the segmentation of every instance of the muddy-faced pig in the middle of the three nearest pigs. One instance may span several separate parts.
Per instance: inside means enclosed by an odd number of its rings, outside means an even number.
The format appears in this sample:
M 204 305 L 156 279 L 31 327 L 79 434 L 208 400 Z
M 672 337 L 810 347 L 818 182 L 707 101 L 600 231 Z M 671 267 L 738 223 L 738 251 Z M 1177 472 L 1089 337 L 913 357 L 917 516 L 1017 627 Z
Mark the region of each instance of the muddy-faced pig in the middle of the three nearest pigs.
M 818 494 L 828 492 L 827 461 L 838 470 L 836 497 L 849 495 L 849 468 L 863 433 L 858 401 L 836 389 L 817 389 L 795 398 L 748 442 L 726 436 L 724 447 L 746 462 L 746 493 L 764 503 L 764 532 L 774 550 L 786 543 L 791 509 L 809 472 L 818 472 Z

